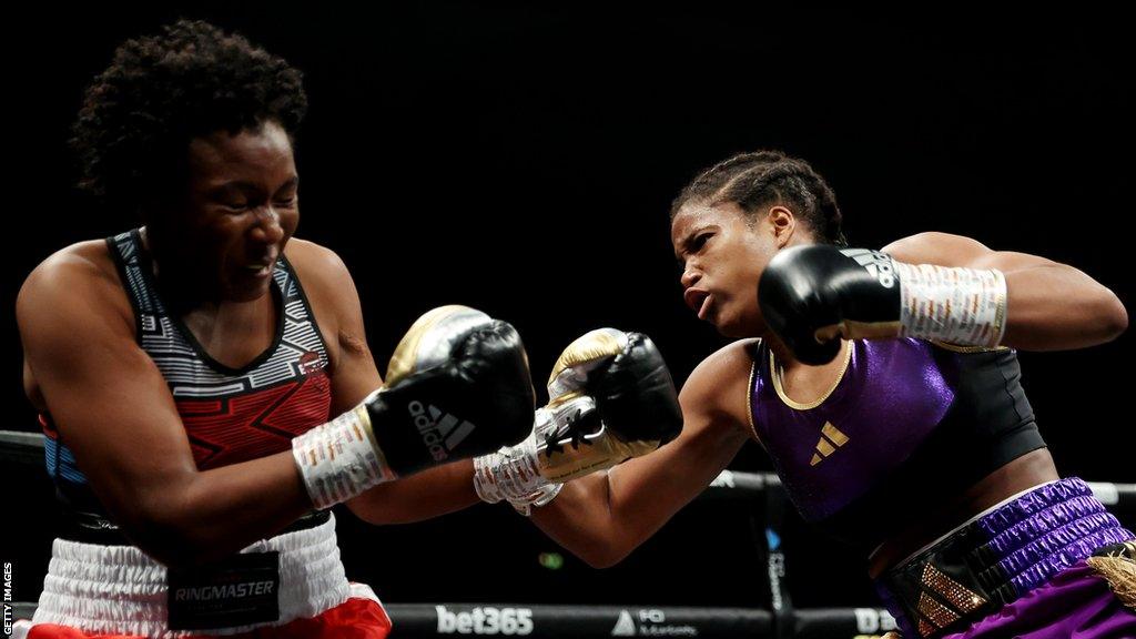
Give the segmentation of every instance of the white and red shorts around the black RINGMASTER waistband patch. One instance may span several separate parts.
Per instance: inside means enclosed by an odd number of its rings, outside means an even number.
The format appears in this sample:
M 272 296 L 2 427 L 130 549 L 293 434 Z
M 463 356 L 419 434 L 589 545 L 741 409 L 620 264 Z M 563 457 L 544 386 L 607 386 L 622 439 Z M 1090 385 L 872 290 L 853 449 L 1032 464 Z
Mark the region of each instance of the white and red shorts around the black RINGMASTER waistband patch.
M 43 594 L 26 639 L 224 637 L 226 639 L 383 639 L 391 619 L 370 587 L 350 583 L 340 562 L 334 516 L 318 526 L 258 541 L 242 553 L 277 551 L 276 621 L 189 631 L 167 620 L 166 566 L 133 546 L 56 539 Z

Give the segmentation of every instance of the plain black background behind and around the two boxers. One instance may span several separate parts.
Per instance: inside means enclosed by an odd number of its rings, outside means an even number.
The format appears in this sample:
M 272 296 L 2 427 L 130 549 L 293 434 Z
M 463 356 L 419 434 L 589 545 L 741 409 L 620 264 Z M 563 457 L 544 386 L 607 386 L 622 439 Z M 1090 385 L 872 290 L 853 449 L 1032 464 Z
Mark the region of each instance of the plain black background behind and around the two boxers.
M 74 192 L 67 127 L 116 44 L 178 16 L 237 30 L 304 72 L 299 235 L 351 268 L 378 362 L 420 313 L 460 302 L 512 322 L 538 380 L 571 339 L 612 325 L 652 335 L 682 382 L 725 342 L 683 306 L 668 206 L 696 171 L 757 148 L 829 180 L 853 246 L 960 233 L 1072 264 L 1133 300 L 1134 74 L 1116 15 L 51 3 L 6 18 L 9 309 L 51 251 L 132 224 Z M 34 430 L 14 314 L 3 322 L 5 428 Z M 1062 473 L 1136 481 L 1131 343 L 1021 355 Z M 732 467 L 769 468 L 755 446 Z M 12 468 L 5 486 L 22 533 L 14 548 L 6 537 L 5 561 L 16 557 L 18 598 L 34 599 L 51 505 Z M 540 567 L 538 553 L 559 549 L 503 507 L 411 526 L 340 521 L 349 575 L 391 601 L 762 597 L 736 506 L 696 504 L 604 572 L 567 554 L 563 569 Z M 799 604 L 871 601 L 859 559 L 790 526 Z

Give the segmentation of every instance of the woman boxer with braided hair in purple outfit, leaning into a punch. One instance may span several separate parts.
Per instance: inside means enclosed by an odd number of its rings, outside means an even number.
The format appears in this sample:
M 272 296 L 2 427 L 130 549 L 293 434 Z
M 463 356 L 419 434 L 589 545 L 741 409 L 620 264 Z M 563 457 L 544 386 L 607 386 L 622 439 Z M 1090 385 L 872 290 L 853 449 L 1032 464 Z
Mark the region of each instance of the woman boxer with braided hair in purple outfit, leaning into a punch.
M 677 439 L 565 486 L 535 523 L 610 565 L 753 439 L 803 517 L 862 549 L 905 637 L 1136 636 L 1134 536 L 1058 474 L 1016 350 L 1114 339 L 1116 294 L 958 235 L 844 248 L 842 218 L 776 151 L 686 186 L 670 211 L 684 299 L 738 340 L 687 379 Z

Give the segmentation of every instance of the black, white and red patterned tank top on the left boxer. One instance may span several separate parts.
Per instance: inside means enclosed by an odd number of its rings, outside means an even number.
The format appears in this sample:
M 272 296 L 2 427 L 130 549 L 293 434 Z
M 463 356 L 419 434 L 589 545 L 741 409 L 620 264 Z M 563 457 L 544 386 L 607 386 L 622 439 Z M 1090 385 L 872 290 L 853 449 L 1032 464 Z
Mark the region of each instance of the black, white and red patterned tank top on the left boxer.
M 207 470 L 289 450 L 293 437 L 328 420 L 327 348 L 300 280 L 282 255 L 273 271 L 281 309 L 272 345 L 241 368 L 216 362 L 179 317 L 166 312 L 137 230 L 108 238 L 134 308 L 139 345 L 161 371 L 185 424 L 193 459 Z M 105 515 L 48 415 L 48 473 L 66 505 Z

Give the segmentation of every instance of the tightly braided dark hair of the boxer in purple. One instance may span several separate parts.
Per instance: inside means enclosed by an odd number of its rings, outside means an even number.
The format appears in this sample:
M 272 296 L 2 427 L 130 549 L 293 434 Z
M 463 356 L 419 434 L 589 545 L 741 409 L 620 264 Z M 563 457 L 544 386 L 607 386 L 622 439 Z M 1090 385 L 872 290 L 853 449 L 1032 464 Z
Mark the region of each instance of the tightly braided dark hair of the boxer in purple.
M 703 171 L 671 204 L 670 219 L 690 201 L 736 202 L 751 223 L 766 206 L 788 205 L 818 241 L 847 244 L 836 193 L 809 163 L 782 151 L 738 153 Z

